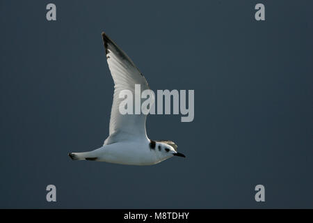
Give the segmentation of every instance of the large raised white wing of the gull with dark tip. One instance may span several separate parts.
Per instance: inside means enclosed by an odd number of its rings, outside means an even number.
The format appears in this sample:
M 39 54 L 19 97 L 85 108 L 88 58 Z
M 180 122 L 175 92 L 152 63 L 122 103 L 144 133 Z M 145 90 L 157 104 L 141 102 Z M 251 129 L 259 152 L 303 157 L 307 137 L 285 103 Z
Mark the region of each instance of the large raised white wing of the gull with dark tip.
M 133 61 L 116 45 L 106 33 L 102 33 L 106 59 L 114 81 L 113 105 L 111 109 L 109 137 L 104 145 L 113 144 L 116 141 L 134 139 L 134 137 L 146 137 L 144 114 L 120 114 L 120 102 L 125 100 L 119 98 L 122 90 L 129 90 L 135 98 L 135 84 L 141 85 L 141 92 L 149 89 L 147 80 L 136 68 Z M 152 99 L 154 101 L 154 98 Z M 134 104 L 133 104 L 134 105 Z M 134 108 L 134 106 L 133 106 Z

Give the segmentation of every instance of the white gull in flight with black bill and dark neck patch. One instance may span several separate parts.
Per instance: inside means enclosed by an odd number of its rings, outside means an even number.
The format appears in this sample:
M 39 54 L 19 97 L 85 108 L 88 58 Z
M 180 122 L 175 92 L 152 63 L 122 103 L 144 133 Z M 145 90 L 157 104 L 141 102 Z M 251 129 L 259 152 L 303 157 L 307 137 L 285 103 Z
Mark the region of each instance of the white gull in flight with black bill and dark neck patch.
M 177 145 L 173 141 L 151 140 L 147 137 L 146 114 L 120 114 L 119 106 L 123 100 L 119 96 L 121 91 L 129 90 L 134 95 L 135 84 L 140 84 L 143 91 L 150 87 L 129 56 L 106 33 L 102 33 L 102 39 L 114 82 L 109 137 L 106 138 L 102 147 L 94 151 L 68 155 L 72 160 L 93 160 L 128 165 L 152 165 L 173 156 L 185 157 L 184 154 L 177 152 Z M 153 102 L 154 97 L 152 97 L 152 104 Z

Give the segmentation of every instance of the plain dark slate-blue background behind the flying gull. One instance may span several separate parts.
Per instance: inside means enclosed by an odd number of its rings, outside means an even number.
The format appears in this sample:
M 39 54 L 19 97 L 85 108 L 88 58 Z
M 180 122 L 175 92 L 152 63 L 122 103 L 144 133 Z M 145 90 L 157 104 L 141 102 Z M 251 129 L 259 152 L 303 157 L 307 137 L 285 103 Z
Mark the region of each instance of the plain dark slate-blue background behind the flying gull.
M 313 208 L 312 14 L 312 1 L 0 1 L 0 207 Z M 172 139 L 185 160 L 67 156 L 109 132 L 102 31 L 154 91 L 195 90 L 193 122 L 147 118 L 148 136 Z

